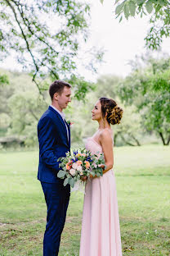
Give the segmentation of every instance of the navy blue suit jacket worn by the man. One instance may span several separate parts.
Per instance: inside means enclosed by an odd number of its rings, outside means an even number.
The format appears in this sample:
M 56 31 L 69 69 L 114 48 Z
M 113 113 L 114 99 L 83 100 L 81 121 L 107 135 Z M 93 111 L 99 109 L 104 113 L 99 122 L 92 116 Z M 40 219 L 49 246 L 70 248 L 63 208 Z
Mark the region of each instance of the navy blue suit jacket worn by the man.
M 65 121 L 52 107 L 48 107 L 38 121 L 39 165 L 38 180 L 47 183 L 57 183 L 57 172 L 60 170 L 57 159 L 65 157 L 70 151 Z

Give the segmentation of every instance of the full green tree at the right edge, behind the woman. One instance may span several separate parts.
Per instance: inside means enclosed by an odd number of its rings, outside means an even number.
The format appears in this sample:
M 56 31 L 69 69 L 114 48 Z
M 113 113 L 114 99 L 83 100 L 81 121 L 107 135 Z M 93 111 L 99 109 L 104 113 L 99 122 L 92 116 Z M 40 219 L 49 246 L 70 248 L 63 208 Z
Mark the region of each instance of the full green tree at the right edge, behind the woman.
M 142 124 L 154 131 L 163 145 L 170 143 L 170 59 L 150 59 L 147 66 L 136 68 L 119 87 L 124 102 L 135 104 Z

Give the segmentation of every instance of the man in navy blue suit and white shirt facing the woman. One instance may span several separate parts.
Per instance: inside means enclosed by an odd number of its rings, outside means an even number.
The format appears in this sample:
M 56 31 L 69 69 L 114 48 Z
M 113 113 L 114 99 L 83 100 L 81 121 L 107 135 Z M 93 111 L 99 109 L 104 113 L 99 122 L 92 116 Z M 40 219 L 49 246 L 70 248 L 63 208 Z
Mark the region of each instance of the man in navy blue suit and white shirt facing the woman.
M 56 256 L 60 235 L 65 226 L 69 204 L 69 185 L 57 177 L 59 162 L 70 150 L 70 130 L 62 112 L 71 101 L 71 85 L 56 80 L 49 88 L 51 106 L 38 121 L 39 166 L 38 180 L 47 203 L 47 226 L 43 239 L 43 256 Z

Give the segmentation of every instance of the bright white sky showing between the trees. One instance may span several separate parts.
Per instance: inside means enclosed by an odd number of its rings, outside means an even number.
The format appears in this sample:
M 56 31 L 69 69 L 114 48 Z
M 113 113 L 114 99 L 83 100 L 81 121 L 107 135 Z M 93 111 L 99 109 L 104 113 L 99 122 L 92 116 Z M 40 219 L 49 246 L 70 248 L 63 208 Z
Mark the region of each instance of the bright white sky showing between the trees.
M 78 72 L 87 80 L 96 80 L 98 75 L 106 74 L 128 75 L 131 71 L 128 62 L 134 60 L 136 55 L 146 52 L 144 38 L 150 28 L 149 16 L 142 19 L 136 16 L 128 21 L 123 19 L 119 23 L 119 20 L 115 19 L 113 0 L 105 0 L 103 5 L 100 0 L 88 2 L 92 5 L 92 22 L 87 46 L 103 48 L 105 56 L 96 75 L 83 68 L 80 62 Z M 170 54 L 170 39 L 163 40 L 162 52 Z M 154 53 L 154 56 L 158 54 Z M 14 57 L 8 57 L 0 66 L 11 70 L 19 69 Z

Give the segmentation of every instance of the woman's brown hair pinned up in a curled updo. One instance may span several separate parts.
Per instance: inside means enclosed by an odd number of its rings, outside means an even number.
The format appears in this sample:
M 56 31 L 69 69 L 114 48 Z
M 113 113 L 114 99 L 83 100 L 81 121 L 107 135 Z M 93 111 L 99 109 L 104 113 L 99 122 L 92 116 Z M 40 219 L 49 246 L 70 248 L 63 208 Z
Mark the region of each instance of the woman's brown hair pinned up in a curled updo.
M 120 123 L 123 117 L 123 109 L 118 107 L 117 103 L 112 98 L 100 98 L 101 102 L 101 113 L 102 117 L 105 118 L 111 125 L 116 125 Z

